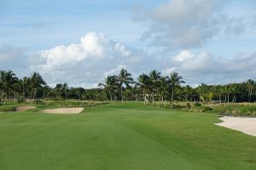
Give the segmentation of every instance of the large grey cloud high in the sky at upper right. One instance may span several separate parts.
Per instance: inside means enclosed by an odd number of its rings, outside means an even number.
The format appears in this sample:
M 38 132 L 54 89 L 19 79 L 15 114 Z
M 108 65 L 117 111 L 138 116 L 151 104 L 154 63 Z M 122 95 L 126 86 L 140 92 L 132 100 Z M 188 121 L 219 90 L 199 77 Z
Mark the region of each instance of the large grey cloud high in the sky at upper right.
M 233 37 L 246 30 L 242 18 L 232 18 L 224 13 L 228 2 L 169 0 L 156 8 L 137 10 L 135 18 L 148 26 L 142 39 L 150 40 L 153 46 L 197 48 L 214 37 Z

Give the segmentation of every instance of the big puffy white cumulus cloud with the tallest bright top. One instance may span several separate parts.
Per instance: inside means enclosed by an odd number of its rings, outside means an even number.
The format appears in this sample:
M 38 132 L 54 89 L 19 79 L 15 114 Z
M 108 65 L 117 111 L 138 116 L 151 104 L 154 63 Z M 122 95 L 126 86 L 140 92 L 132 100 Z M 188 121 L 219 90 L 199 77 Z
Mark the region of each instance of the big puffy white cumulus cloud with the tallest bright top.
M 49 83 L 87 82 L 96 85 L 104 76 L 117 74 L 122 68 L 143 70 L 147 60 L 143 51 L 114 42 L 102 33 L 89 32 L 80 43 L 43 50 L 34 58 L 41 60 L 34 69 L 42 72 Z M 141 65 L 141 66 L 139 66 Z

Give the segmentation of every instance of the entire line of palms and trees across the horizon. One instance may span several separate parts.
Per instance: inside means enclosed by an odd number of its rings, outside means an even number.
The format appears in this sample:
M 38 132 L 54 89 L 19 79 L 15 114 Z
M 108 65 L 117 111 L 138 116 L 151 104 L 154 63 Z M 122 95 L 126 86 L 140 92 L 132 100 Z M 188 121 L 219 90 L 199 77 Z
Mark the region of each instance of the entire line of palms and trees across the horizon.
M 256 82 L 252 79 L 241 83 L 207 85 L 201 83 L 196 88 L 185 85 L 183 77 L 177 72 L 163 77 L 160 71 L 141 74 L 137 79 L 121 69 L 119 75 L 105 77 L 99 88 L 73 88 L 67 82 L 58 83 L 54 88 L 44 82 L 38 72 L 21 79 L 14 71 L 0 71 L 1 104 L 7 100 L 22 102 L 25 99 L 80 99 L 80 100 L 143 100 L 144 104 L 169 101 L 236 103 L 254 102 Z

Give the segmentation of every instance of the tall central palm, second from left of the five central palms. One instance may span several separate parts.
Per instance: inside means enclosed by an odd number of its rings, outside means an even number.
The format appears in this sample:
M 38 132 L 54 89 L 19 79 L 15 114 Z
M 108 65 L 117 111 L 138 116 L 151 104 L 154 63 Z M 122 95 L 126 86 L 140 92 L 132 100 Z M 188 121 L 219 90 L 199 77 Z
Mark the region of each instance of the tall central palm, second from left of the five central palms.
M 123 85 L 125 84 L 126 87 L 129 86 L 130 83 L 133 82 L 133 79 L 131 77 L 131 73 L 129 73 L 128 71 L 126 71 L 125 69 L 122 69 L 119 73 L 119 76 L 116 77 L 117 81 L 119 82 L 119 87 L 120 87 L 120 91 L 121 91 L 121 98 L 122 101 L 124 101 L 124 97 L 123 97 Z

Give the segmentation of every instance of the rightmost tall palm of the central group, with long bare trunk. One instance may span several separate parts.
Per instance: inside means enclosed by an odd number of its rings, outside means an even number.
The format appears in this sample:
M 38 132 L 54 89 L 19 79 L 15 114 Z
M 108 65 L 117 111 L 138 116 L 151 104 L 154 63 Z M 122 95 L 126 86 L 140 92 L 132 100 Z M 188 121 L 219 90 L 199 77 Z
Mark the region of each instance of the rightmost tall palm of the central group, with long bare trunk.
M 177 72 L 172 72 L 171 77 L 167 77 L 167 79 L 172 87 L 171 103 L 172 103 L 172 109 L 173 109 L 173 98 L 174 98 L 175 88 L 177 88 L 178 86 L 180 86 L 182 83 L 185 83 L 185 82 L 182 80 L 183 77 L 178 76 Z

